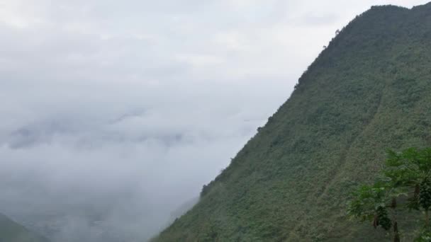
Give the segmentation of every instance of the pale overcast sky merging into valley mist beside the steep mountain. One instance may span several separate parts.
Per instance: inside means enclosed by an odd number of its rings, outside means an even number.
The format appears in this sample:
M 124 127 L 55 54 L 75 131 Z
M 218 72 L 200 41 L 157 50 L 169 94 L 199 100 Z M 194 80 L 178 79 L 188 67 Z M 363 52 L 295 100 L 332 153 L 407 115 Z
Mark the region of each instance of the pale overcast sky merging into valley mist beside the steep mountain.
M 337 29 L 372 5 L 426 2 L 0 0 L 0 212 L 36 229 L 55 214 L 58 241 L 107 241 L 69 212 L 96 207 L 102 227 L 151 236 Z

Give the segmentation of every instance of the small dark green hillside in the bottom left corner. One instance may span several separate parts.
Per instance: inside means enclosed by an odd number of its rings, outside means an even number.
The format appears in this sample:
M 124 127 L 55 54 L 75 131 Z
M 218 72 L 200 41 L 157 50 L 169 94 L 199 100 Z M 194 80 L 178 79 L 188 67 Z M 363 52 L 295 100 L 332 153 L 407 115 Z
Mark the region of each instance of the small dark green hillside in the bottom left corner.
M 0 242 L 49 242 L 24 226 L 0 214 Z

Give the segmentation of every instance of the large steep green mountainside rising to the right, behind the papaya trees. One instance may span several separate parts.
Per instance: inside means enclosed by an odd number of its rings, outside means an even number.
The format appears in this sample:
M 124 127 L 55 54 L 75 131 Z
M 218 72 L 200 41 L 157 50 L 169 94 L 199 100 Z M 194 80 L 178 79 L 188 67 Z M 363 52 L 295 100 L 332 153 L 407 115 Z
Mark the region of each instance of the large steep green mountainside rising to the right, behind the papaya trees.
M 357 16 L 155 241 L 385 241 L 345 207 L 385 149 L 431 145 L 431 4 Z M 410 220 L 408 220 L 410 219 Z M 405 239 L 417 219 L 400 221 Z

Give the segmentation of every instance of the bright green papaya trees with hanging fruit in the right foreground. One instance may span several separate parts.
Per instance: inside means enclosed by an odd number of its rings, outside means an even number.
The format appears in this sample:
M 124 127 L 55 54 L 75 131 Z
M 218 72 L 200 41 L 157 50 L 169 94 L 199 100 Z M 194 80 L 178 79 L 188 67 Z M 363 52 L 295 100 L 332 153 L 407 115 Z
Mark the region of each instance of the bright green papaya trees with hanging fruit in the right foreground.
M 393 241 L 400 241 L 396 211 L 423 211 L 424 227 L 417 241 L 431 241 L 428 236 L 431 231 L 431 148 L 409 148 L 399 153 L 388 150 L 387 154 L 385 167 L 376 183 L 362 185 L 353 193 L 348 214 L 362 220 L 372 220 L 374 228 L 381 226 L 388 230 L 392 226 Z M 408 199 L 397 206 L 397 199 L 401 196 Z M 391 219 L 388 213 L 391 213 Z

